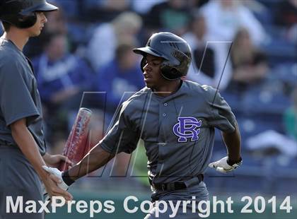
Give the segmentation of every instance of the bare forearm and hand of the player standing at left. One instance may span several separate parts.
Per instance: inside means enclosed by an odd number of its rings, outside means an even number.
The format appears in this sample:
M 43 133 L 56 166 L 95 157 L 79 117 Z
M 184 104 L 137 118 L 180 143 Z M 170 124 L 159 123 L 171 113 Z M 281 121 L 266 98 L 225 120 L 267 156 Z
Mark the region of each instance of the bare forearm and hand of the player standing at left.
M 45 161 L 40 155 L 35 139 L 26 126 L 26 119 L 19 119 L 18 121 L 13 122 L 10 125 L 10 128 L 14 141 L 16 141 L 18 147 L 25 155 L 25 158 L 27 158 L 31 165 L 33 165 L 33 168 L 45 184 L 47 192 L 52 196 L 64 196 L 66 200 L 71 200 L 71 194 L 57 186 L 59 179 L 42 169 L 42 165 L 45 165 Z

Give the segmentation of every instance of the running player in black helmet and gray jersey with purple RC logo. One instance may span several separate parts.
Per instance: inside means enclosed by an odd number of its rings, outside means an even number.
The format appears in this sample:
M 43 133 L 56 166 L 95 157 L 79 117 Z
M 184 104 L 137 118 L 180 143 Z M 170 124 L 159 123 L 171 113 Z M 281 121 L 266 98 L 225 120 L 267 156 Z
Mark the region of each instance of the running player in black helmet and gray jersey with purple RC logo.
M 214 128 L 221 129 L 228 156 L 210 166 L 229 172 L 241 164 L 240 133 L 234 114 L 214 88 L 181 79 L 191 62 L 190 47 L 181 37 L 158 32 L 146 47 L 134 52 L 143 56 L 141 70 L 146 87 L 122 104 L 112 129 L 81 162 L 63 173 L 45 169 L 56 172 L 69 186 L 105 165 L 116 153 L 132 153 L 142 138 L 153 202 L 176 203 L 192 200 L 193 196 L 197 201 L 207 200 L 203 174 L 211 160 Z M 178 208 L 176 218 L 198 217 L 192 208 L 186 213 L 182 208 Z M 155 211 L 156 206 L 146 218 L 156 218 Z M 170 218 L 171 213 L 168 210 L 158 218 Z

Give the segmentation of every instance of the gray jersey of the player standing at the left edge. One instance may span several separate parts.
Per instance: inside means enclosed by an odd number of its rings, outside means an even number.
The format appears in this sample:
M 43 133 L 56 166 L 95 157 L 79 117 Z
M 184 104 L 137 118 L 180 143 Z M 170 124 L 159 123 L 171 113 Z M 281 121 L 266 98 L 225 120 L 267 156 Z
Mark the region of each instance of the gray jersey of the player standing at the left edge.
M 33 69 L 23 52 L 4 38 L 0 38 L 0 109 L 0 144 L 16 146 L 9 125 L 26 118 L 28 130 L 44 155 L 42 109 Z

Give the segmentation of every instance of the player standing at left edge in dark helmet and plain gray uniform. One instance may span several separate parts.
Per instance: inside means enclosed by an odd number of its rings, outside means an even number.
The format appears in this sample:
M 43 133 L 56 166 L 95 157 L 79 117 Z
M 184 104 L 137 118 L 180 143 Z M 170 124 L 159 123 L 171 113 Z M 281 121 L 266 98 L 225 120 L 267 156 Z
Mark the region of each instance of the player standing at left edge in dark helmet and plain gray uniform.
M 43 218 L 42 213 L 7 213 L 7 197 L 42 201 L 41 182 L 50 195 L 71 195 L 59 179 L 42 169 L 57 167 L 62 155 L 46 153 L 42 109 L 34 71 L 22 50 L 29 37 L 40 35 L 47 22 L 43 11 L 58 8 L 45 0 L 1 0 L 0 20 L 0 218 Z

